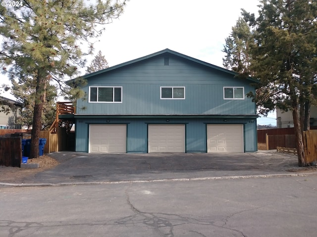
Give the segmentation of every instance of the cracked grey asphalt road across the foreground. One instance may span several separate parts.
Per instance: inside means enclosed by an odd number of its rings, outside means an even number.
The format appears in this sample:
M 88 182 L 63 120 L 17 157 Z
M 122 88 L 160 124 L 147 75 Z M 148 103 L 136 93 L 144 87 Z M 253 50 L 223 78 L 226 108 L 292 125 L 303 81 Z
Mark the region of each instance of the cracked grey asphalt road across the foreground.
M 317 176 L 0 188 L 0 237 L 315 237 Z

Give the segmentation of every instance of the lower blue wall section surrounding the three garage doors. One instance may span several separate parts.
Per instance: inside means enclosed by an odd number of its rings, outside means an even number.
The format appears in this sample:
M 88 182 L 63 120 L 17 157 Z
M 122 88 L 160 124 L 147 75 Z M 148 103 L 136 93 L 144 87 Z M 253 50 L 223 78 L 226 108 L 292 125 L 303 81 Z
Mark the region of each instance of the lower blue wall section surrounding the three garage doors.
M 169 119 L 169 122 L 166 122 Z M 108 120 L 108 122 L 106 122 Z M 207 124 L 244 124 L 244 151 L 257 151 L 257 129 L 255 118 L 78 118 L 76 119 L 76 152 L 88 152 L 89 124 L 92 123 L 126 123 L 127 124 L 127 152 L 148 152 L 148 124 L 149 123 L 183 123 L 186 134 L 187 153 L 207 152 Z

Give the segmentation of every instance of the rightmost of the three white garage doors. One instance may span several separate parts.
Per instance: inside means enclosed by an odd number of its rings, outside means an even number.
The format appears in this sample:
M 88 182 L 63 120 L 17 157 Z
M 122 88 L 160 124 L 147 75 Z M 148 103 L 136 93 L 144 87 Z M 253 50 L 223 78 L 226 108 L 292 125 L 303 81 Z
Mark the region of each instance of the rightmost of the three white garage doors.
M 208 124 L 208 152 L 244 152 L 242 124 Z

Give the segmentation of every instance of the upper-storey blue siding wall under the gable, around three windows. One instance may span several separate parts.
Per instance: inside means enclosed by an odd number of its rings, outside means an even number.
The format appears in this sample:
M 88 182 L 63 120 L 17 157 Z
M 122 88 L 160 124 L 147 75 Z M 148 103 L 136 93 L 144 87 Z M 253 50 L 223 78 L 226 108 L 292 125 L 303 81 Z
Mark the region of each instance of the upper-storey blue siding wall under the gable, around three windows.
M 164 56 L 128 65 L 88 79 L 84 99 L 77 101 L 78 115 L 255 115 L 251 99 L 224 100 L 223 86 L 244 86 L 250 81 L 206 66 Z M 122 86 L 122 103 L 88 103 L 89 86 Z M 161 100 L 160 86 L 185 86 L 185 99 Z

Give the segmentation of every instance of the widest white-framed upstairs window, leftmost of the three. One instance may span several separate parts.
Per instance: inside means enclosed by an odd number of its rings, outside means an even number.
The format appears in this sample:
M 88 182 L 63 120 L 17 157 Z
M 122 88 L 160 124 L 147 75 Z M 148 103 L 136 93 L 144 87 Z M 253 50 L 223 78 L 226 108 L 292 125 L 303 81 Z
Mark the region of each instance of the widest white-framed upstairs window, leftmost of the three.
M 89 86 L 90 103 L 122 103 L 122 86 Z

